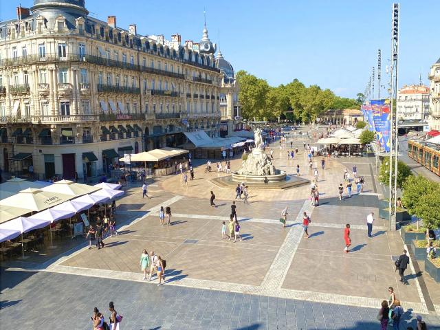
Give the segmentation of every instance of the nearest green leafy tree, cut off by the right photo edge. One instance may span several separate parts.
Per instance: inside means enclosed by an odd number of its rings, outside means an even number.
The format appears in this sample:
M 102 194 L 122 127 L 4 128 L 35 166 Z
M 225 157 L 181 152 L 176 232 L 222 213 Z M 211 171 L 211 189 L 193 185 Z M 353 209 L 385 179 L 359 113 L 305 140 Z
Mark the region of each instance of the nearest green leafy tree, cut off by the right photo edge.
M 440 227 L 440 188 L 430 194 L 424 193 L 415 205 L 415 216 L 423 220 L 426 228 Z

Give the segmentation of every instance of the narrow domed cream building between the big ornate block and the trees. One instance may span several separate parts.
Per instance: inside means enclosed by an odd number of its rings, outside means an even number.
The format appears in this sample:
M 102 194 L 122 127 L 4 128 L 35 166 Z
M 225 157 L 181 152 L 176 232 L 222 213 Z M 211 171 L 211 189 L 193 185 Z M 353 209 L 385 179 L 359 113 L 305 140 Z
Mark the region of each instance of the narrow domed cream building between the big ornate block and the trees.
M 232 65 L 223 58 L 220 50 L 216 56 L 216 65 L 223 74 L 220 88 L 221 137 L 243 129 L 243 118 L 239 102 L 239 83 L 235 79 Z

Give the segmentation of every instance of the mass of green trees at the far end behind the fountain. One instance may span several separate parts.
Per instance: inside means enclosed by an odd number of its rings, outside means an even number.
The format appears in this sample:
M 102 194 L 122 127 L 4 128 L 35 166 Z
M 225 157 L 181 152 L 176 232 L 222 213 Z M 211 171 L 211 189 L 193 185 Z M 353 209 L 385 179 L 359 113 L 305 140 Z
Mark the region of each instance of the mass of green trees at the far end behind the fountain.
M 318 85 L 306 87 L 298 79 L 287 85 L 271 87 L 266 80 L 243 70 L 237 72 L 236 79 L 240 85 L 243 118 L 248 120 L 270 120 L 285 113 L 289 120 L 309 122 L 328 109 L 359 107 L 357 100 L 340 98 L 330 89 L 321 89 Z

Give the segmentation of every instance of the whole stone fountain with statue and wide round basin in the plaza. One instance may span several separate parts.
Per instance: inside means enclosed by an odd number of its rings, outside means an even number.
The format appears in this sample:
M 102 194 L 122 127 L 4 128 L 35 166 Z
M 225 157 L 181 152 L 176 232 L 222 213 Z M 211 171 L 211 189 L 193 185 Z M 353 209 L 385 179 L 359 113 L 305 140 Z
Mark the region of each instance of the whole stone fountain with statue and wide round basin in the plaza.
M 212 182 L 219 186 L 236 186 L 245 182 L 249 186 L 269 189 L 284 189 L 308 184 L 309 180 L 290 176 L 284 170 L 278 170 L 272 164 L 272 159 L 265 153 L 261 129 L 255 129 L 255 148 L 248 157 L 243 157 L 241 168 L 232 175 L 217 177 Z

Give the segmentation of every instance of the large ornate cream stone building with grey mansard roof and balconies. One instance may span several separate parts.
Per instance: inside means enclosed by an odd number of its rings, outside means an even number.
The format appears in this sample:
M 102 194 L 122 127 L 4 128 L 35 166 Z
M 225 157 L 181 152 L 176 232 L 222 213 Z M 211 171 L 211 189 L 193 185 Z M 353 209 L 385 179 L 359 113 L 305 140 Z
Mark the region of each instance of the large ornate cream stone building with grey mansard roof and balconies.
M 184 131 L 217 136 L 223 74 L 206 27 L 202 41 L 124 30 L 84 0 L 17 8 L 0 22 L 0 168 L 87 179 Z

